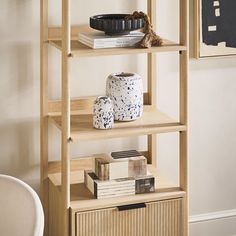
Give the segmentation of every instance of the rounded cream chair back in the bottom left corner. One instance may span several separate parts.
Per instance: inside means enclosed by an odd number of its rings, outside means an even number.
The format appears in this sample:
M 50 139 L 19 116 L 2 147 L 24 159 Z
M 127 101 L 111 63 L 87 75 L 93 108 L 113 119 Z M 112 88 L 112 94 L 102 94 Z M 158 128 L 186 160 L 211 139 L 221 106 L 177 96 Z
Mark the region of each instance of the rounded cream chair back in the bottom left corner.
M 0 175 L 0 235 L 43 236 L 44 215 L 36 192 L 26 183 Z

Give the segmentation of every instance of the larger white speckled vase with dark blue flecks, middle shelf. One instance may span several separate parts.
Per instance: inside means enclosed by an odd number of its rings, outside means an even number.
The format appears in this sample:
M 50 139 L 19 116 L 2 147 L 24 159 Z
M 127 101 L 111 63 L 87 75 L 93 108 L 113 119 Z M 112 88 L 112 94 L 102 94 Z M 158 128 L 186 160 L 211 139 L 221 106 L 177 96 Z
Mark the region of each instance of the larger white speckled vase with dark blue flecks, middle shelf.
M 114 73 L 107 78 L 106 94 L 114 105 L 114 119 L 131 121 L 143 113 L 142 79 L 135 73 Z

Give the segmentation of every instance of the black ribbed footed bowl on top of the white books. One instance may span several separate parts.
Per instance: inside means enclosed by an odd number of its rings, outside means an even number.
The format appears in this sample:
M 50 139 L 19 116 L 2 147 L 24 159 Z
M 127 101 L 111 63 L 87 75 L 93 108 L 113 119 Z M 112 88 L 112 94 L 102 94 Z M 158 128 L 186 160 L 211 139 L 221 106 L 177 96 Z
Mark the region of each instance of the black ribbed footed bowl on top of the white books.
M 90 17 L 90 27 L 108 35 L 124 35 L 144 27 L 144 19 L 125 20 L 130 14 L 105 14 Z

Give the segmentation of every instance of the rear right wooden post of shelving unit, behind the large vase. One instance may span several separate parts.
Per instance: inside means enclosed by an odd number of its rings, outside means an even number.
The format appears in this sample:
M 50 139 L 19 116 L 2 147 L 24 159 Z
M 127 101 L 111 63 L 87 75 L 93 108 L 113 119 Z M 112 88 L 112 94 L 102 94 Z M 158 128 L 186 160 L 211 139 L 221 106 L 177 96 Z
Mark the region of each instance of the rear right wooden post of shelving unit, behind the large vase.
M 156 0 L 148 0 L 147 11 L 153 28 L 156 27 Z M 148 63 L 148 104 L 156 107 L 156 54 L 147 54 Z M 156 166 L 156 134 L 148 135 L 148 163 Z

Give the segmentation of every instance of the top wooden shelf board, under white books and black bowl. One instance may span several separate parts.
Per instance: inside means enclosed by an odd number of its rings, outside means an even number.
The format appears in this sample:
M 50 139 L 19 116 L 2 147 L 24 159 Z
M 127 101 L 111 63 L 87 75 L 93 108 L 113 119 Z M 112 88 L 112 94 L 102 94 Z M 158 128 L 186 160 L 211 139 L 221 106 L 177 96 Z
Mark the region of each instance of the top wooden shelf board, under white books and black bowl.
M 62 50 L 61 40 L 49 40 L 49 44 L 56 47 L 59 50 Z M 123 54 L 171 52 L 171 51 L 184 51 L 184 50 L 186 50 L 186 46 L 174 43 L 169 40 L 164 40 L 163 46 L 152 47 L 152 48 L 105 48 L 105 49 L 92 49 L 80 43 L 77 40 L 71 41 L 72 57 L 123 55 Z

